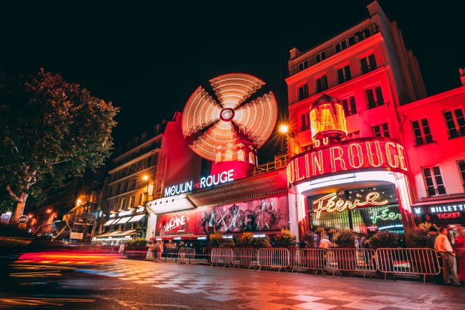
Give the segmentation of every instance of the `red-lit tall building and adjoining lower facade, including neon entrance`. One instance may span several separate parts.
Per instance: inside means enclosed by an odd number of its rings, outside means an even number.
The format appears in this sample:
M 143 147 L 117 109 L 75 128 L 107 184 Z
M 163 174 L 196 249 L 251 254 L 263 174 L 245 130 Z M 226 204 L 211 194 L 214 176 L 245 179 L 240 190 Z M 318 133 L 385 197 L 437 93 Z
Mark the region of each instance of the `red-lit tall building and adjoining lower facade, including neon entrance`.
M 396 22 L 376 1 L 367 8 L 370 17 L 355 27 L 290 50 L 287 181 L 296 234 L 465 223 L 465 87 L 427 97 Z

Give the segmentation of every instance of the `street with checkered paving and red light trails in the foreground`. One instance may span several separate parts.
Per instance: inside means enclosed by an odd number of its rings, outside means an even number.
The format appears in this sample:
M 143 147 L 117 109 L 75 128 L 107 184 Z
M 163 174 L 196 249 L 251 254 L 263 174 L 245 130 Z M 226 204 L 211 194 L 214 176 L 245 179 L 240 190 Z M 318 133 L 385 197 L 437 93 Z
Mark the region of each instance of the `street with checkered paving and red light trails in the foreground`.
M 3 260 L 3 263 L 6 260 Z M 118 259 L 7 263 L 3 309 L 464 309 L 465 288 Z

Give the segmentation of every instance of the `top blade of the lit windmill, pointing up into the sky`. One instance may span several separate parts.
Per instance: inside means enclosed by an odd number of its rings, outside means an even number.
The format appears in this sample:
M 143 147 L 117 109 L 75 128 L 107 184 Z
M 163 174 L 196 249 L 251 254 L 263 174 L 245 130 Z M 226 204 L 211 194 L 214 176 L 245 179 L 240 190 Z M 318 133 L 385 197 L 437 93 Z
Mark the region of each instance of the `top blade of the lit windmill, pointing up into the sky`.
M 210 80 L 217 99 L 223 108 L 236 108 L 245 99 L 257 92 L 263 85 L 263 80 L 244 73 L 229 73 Z

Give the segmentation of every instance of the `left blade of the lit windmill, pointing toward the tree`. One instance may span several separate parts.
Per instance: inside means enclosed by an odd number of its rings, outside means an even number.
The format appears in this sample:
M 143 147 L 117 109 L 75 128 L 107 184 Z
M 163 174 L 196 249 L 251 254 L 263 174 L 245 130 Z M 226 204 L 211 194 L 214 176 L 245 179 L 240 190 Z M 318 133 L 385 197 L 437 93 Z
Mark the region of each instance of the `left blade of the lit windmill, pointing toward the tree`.
M 190 136 L 220 119 L 221 106 L 199 86 L 187 100 L 183 112 L 183 134 Z

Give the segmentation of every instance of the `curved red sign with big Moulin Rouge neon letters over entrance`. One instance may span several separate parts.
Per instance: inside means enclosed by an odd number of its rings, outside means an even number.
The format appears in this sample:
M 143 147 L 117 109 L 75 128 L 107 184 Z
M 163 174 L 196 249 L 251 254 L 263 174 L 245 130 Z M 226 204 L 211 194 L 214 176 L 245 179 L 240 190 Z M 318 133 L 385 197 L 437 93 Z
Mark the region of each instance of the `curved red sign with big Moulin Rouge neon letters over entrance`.
M 367 168 L 405 173 L 407 163 L 403 146 L 394 139 L 372 137 L 314 148 L 289 160 L 287 181 L 293 185 L 325 174 Z

